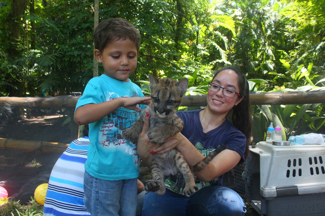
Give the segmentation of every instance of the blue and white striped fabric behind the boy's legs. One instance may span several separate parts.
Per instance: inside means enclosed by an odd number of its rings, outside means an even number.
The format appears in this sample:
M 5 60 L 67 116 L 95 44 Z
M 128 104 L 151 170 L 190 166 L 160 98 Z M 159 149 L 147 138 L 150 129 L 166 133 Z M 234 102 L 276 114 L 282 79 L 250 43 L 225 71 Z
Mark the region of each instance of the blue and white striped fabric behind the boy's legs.
M 44 216 L 90 215 L 84 205 L 84 172 L 88 137 L 79 138 L 55 163 L 46 192 Z

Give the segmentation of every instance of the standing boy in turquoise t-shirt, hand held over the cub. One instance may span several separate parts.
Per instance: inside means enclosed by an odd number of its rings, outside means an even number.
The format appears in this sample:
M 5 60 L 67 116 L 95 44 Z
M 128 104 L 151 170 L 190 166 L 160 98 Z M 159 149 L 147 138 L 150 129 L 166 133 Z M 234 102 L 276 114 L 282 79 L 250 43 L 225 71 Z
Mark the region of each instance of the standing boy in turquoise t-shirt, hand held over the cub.
M 93 39 L 104 74 L 88 82 L 74 114 L 78 125 L 89 124 L 84 203 L 92 216 L 135 215 L 140 161 L 135 143 L 121 133 L 150 103 L 129 79 L 136 69 L 140 34 L 126 20 L 114 18 L 100 22 Z

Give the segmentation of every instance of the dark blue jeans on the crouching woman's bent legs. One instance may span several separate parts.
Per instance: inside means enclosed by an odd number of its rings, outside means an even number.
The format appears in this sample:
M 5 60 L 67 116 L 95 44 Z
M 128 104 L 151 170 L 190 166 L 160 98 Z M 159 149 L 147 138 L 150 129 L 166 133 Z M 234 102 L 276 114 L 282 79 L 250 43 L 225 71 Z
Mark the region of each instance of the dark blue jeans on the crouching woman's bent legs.
M 246 206 L 239 194 L 224 186 L 204 187 L 191 197 L 168 189 L 164 195 L 147 192 L 142 207 L 143 216 L 237 216 L 245 213 Z

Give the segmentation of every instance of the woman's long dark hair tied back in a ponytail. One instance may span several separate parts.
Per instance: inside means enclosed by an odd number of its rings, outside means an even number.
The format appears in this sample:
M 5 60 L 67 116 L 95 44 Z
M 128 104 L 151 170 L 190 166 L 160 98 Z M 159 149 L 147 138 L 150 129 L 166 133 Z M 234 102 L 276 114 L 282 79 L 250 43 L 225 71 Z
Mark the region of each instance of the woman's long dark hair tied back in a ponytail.
M 240 130 L 246 137 L 246 149 L 245 149 L 245 159 L 249 154 L 249 144 L 251 143 L 252 138 L 252 130 L 253 130 L 253 119 L 251 115 L 251 104 L 249 102 L 249 85 L 245 78 L 245 76 L 241 73 L 241 71 L 235 66 L 227 66 L 218 70 L 215 74 L 217 76 L 218 73 L 224 70 L 232 70 L 238 76 L 238 86 L 240 98 L 243 97 L 240 103 L 237 106 L 234 106 L 229 112 L 231 114 L 231 122 L 232 124 Z M 212 79 L 212 80 L 213 80 Z

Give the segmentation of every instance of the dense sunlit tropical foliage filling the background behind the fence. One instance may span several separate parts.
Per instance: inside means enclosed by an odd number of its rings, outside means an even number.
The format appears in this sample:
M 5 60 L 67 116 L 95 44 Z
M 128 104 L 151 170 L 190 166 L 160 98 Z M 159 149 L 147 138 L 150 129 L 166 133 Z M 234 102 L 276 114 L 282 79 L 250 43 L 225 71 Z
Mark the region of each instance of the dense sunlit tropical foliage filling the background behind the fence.
M 135 81 L 148 73 L 186 76 L 187 94 L 205 93 L 213 71 L 232 64 L 252 91 L 324 90 L 324 6 L 324 0 L 117 0 L 100 1 L 99 19 L 122 17 L 139 29 Z M 1 96 L 83 91 L 93 76 L 93 0 L 1 0 L 0 15 Z M 283 138 L 325 133 L 323 107 L 253 106 L 254 140 L 263 140 L 271 121 L 283 126 Z

